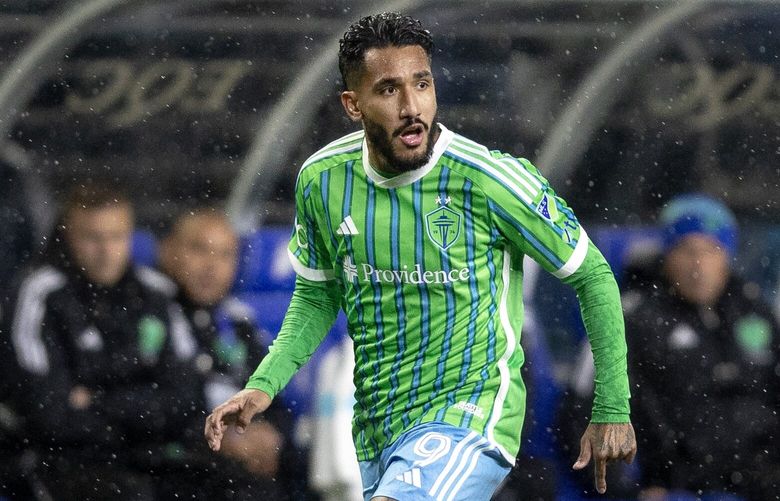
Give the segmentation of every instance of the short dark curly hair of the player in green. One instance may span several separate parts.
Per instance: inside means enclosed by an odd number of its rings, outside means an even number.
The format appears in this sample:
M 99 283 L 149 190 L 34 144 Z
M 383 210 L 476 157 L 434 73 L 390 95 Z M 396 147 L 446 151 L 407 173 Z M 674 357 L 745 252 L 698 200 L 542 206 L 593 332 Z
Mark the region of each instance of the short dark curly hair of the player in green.
M 339 40 L 339 71 L 344 88 L 351 88 L 368 49 L 419 45 L 431 58 L 433 38 L 420 21 L 397 12 L 366 16 L 352 23 Z

